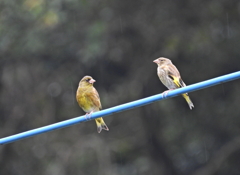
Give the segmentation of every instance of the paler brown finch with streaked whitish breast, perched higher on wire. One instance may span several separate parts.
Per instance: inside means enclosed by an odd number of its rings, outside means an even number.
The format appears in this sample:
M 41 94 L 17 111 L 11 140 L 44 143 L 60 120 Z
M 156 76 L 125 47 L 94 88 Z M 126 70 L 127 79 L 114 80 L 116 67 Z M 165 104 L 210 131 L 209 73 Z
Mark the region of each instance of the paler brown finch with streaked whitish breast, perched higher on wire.
M 178 69 L 172 64 L 172 61 L 170 59 L 160 57 L 153 61 L 158 65 L 157 68 L 157 74 L 160 79 L 160 81 L 169 89 L 177 89 L 186 86 L 186 84 L 183 82 L 180 73 Z M 168 91 L 169 91 L 168 90 Z M 168 92 L 166 91 L 166 92 Z M 194 108 L 194 105 L 189 98 L 188 94 L 182 94 L 182 96 L 187 101 L 189 108 Z

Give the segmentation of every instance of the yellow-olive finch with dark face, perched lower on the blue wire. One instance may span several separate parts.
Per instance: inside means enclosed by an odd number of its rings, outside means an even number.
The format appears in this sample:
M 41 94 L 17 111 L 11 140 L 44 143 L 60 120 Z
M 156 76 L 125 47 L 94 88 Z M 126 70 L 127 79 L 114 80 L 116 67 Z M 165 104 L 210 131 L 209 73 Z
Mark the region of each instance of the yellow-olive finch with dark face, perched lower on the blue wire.
M 100 98 L 97 90 L 93 87 L 95 80 L 91 76 L 85 76 L 79 82 L 76 93 L 76 99 L 79 106 L 86 112 L 86 118 L 93 112 L 102 109 Z M 109 130 L 102 117 L 95 119 L 97 131 L 100 133 L 102 129 Z

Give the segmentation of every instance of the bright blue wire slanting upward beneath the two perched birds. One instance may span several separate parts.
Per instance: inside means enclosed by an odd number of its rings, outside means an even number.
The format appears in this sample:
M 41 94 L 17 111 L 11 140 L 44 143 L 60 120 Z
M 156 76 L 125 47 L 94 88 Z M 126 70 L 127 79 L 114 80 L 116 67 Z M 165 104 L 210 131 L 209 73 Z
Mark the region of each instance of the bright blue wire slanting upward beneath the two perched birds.
M 203 81 L 203 82 L 200 82 L 200 83 L 192 84 L 192 85 L 189 85 L 189 86 L 186 86 L 186 87 L 183 87 L 183 88 L 180 88 L 180 89 L 176 89 L 176 90 L 173 90 L 173 91 L 169 91 L 169 93 L 166 96 L 163 96 L 162 94 L 153 95 L 151 97 L 143 98 L 143 99 L 136 100 L 136 101 L 129 102 L 129 103 L 125 103 L 125 104 L 122 104 L 122 105 L 119 105 L 119 106 L 108 108 L 108 109 L 105 109 L 105 110 L 102 110 L 102 111 L 99 111 L 99 112 L 95 112 L 91 115 L 91 119 L 87 119 L 85 116 L 80 116 L 80 117 L 76 117 L 76 118 L 73 118 L 73 119 L 58 122 L 58 123 L 55 123 L 55 124 L 52 124 L 52 125 L 48 125 L 48 126 L 44 126 L 44 127 L 41 127 L 41 128 L 30 130 L 30 131 L 15 134 L 15 135 L 12 135 L 12 136 L 4 137 L 4 138 L 0 139 L 0 144 L 6 144 L 6 143 L 14 142 L 14 141 L 21 140 L 21 139 L 24 139 L 24 138 L 27 138 L 27 137 L 31 137 L 31 136 L 38 135 L 38 134 L 41 134 L 41 133 L 49 132 L 49 131 L 52 131 L 52 130 L 55 130 L 55 129 L 64 128 L 64 127 L 71 126 L 71 125 L 74 125 L 74 124 L 77 124 L 77 123 L 82 123 L 82 122 L 85 122 L 85 121 L 88 121 L 88 120 L 92 120 L 92 119 L 96 119 L 96 118 L 99 118 L 99 117 L 104 117 L 104 116 L 107 116 L 107 115 L 111 115 L 111 114 L 114 114 L 114 113 L 117 113 L 117 112 L 126 111 L 126 110 L 129 110 L 129 109 L 132 109 L 132 108 L 136 108 L 136 107 L 140 107 L 140 106 L 143 106 L 143 105 L 153 103 L 155 101 L 175 97 L 177 95 L 184 94 L 184 93 L 187 93 L 187 92 L 192 92 L 192 91 L 204 89 L 204 88 L 207 88 L 207 87 L 210 87 L 210 86 L 225 83 L 225 82 L 232 81 L 232 80 L 235 80 L 235 79 L 238 79 L 238 78 L 240 78 L 240 71 L 235 72 L 235 73 L 231 73 L 231 74 L 227 74 L 227 75 L 224 75 L 224 76 L 220 76 L 220 77 L 217 77 L 217 78 L 213 78 L 213 79 L 210 79 L 210 80 L 206 80 L 206 81 Z

